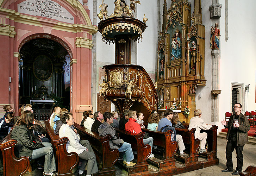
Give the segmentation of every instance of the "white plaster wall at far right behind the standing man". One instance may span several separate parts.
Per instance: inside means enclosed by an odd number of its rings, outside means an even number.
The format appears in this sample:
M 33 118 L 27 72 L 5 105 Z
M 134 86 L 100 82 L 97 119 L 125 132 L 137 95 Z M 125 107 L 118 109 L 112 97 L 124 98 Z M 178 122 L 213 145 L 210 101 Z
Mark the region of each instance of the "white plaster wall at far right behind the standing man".
M 256 17 L 255 0 L 232 0 L 228 2 L 228 36 L 225 42 L 225 0 L 220 0 L 221 9 L 221 53 L 220 53 L 220 114 L 224 119 L 231 112 L 231 82 L 250 84 L 248 111 L 255 111 L 256 70 Z M 246 101 L 246 98 L 245 98 Z M 244 102 L 240 102 L 242 105 Z M 246 111 L 246 103 L 242 112 Z M 223 125 L 218 123 L 219 127 Z

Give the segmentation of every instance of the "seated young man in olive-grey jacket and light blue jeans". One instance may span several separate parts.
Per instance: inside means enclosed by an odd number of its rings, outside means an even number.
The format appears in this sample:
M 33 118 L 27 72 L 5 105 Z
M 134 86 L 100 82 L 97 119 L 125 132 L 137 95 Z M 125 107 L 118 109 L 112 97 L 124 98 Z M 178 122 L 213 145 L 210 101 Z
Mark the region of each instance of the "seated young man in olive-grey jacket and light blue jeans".
M 104 122 L 99 127 L 99 135 L 105 136 L 110 134 L 112 136 L 110 140 L 110 148 L 111 149 L 118 149 L 119 152 L 125 152 L 124 157 L 124 164 L 126 166 L 133 166 L 136 163 L 133 163 L 132 160 L 134 159 L 132 153 L 131 144 L 124 142 L 123 139 L 119 139 L 115 136 L 115 128 L 111 126 L 113 123 L 113 114 L 110 112 L 105 112 L 103 114 Z M 123 144 L 121 147 L 118 147 L 116 144 Z

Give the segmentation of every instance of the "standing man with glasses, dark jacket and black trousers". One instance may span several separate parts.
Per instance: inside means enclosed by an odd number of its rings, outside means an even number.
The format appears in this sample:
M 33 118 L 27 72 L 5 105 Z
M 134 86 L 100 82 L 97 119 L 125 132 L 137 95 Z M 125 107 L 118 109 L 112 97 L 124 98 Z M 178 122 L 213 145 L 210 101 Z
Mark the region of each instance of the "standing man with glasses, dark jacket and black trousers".
M 225 120 L 221 121 L 221 124 L 227 131 L 227 146 L 226 146 L 226 159 L 227 168 L 221 170 L 221 172 L 232 172 L 233 171 L 233 161 L 232 152 L 236 149 L 237 167 L 236 171 L 232 175 L 238 175 L 243 169 L 243 148 L 244 144 L 248 142 L 248 131 L 250 130 L 249 120 L 241 113 L 242 105 L 236 103 L 234 105 L 235 114 L 231 115 L 229 121 L 226 123 Z M 238 122 L 235 122 L 238 119 Z

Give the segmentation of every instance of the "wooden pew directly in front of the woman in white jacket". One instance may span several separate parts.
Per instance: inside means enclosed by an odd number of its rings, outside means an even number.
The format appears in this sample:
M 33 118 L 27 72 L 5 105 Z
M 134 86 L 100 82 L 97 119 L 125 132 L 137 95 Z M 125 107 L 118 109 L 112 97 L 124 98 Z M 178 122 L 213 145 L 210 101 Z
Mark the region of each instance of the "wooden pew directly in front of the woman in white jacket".
M 114 168 L 114 164 L 118 160 L 119 151 L 118 149 L 110 148 L 109 142 L 111 135 L 99 136 L 98 133 L 92 132 L 77 123 L 74 123 L 73 126 L 76 128 L 81 139 L 89 141 L 95 155 L 100 158 L 100 161 L 97 162 L 100 163 L 101 168 L 99 168 L 99 172 L 96 175 L 115 175 L 116 169 Z

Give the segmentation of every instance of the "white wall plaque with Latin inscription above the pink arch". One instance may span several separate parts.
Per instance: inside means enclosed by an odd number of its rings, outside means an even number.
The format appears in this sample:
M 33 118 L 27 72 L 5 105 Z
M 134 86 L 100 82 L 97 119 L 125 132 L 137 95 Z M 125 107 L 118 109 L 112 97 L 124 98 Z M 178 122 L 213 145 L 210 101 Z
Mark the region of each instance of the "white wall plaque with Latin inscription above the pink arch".
M 74 23 L 74 17 L 64 7 L 51 0 L 26 0 L 18 4 L 18 12 Z

